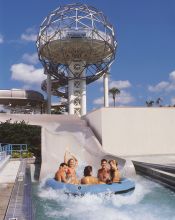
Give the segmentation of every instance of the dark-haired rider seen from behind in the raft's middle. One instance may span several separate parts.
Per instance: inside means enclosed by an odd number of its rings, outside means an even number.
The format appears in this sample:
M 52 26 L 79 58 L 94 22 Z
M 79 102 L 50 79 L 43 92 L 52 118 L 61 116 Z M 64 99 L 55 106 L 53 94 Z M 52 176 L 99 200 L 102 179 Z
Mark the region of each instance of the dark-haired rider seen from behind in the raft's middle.
M 81 184 L 98 184 L 98 178 L 92 176 L 92 166 L 84 168 L 84 177 L 81 179 Z

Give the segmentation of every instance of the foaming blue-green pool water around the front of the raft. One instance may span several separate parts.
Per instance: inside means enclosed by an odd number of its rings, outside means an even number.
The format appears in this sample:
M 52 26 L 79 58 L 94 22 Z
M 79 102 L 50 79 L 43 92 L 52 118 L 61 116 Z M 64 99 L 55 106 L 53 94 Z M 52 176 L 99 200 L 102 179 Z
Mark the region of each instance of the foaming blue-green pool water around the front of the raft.
M 37 220 L 175 220 L 175 193 L 137 176 L 136 188 L 122 195 L 74 197 L 33 185 Z

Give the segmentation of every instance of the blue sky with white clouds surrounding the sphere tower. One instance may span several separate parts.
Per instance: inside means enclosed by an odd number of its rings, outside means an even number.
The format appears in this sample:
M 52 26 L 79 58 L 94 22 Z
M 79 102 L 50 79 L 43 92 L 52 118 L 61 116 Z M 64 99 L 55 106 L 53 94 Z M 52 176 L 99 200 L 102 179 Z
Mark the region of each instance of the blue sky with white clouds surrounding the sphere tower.
M 36 34 L 52 10 L 74 2 L 0 0 L 0 89 L 41 91 L 45 76 L 36 54 Z M 163 105 L 175 104 L 175 1 L 79 2 L 102 10 L 115 28 L 118 48 L 109 84 L 121 90 L 117 105 L 144 106 L 159 97 Z M 87 104 L 88 110 L 103 105 L 101 80 L 88 86 Z

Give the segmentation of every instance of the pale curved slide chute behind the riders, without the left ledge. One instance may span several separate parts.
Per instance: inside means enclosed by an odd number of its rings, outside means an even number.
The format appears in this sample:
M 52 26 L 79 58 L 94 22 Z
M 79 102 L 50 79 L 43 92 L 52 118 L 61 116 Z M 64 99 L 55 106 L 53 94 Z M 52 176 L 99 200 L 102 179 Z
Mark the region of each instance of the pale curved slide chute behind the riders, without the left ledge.
M 79 161 L 78 174 L 83 175 L 86 165 L 92 165 L 94 175 L 100 167 L 102 158 L 116 159 L 119 162 L 122 175 L 131 177 L 135 170 L 130 161 L 118 158 L 104 152 L 92 130 L 86 122 L 80 119 L 63 121 L 55 124 L 55 127 L 43 127 L 42 129 L 42 167 L 40 179 L 54 175 L 59 164 L 63 162 L 65 150 L 72 152 Z

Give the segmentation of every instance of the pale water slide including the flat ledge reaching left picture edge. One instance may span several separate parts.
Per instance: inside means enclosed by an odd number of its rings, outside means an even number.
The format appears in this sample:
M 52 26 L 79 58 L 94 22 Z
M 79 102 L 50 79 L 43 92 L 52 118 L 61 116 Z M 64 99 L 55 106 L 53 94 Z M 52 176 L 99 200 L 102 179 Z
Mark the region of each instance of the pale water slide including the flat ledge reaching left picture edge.
M 71 115 L 25 115 L 25 114 L 0 114 L 0 121 L 21 121 L 42 127 L 42 165 L 40 180 L 47 176 L 53 176 L 64 160 L 66 149 L 73 153 L 78 161 L 78 175 L 83 175 L 86 165 L 93 166 L 93 174 L 96 175 L 100 167 L 100 160 L 116 159 L 122 176 L 132 177 L 135 169 L 130 160 L 111 155 L 105 152 L 87 125 L 86 120 Z

